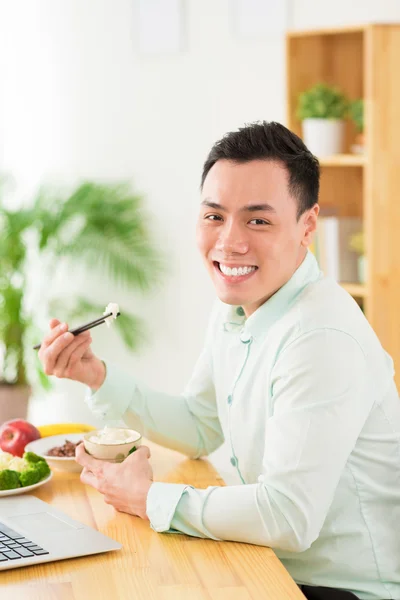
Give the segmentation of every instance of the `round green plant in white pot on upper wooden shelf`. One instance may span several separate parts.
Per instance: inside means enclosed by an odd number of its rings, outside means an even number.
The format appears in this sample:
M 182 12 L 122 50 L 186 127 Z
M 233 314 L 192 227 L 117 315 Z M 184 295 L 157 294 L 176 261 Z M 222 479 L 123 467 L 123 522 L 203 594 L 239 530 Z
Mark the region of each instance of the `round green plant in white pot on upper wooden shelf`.
M 337 88 L 317 83 L 299 96 L 297 117 L 302 122 L 303 140 L 316 156 L 343 152 L 348 100 Z

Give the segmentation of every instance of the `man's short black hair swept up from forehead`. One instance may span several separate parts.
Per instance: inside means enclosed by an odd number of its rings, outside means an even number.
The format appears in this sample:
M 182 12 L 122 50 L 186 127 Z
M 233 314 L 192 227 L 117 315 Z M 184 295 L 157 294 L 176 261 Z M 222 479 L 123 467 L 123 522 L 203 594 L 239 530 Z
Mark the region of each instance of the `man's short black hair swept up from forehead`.
M 281 123 L 250 123 L 225 134 L 211 148 L 203 166 L 200 188 L 218 160 L 246 163 L 270 160 L 282 163 L 289 173 L 289 192 L 297 199 L 297 218 L 318 202 L 318 159 L 298 135 Z

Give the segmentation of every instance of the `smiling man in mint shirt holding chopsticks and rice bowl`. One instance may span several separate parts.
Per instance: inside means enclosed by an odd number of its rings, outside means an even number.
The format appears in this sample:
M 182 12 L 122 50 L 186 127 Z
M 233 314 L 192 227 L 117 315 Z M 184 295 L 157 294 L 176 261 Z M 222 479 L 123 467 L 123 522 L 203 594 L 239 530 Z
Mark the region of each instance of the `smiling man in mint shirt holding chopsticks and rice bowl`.
M 153 482 L 146 448 L 111 465 L 79 447 L 82 481 L 158 532 L 272 547 L 310 600 L 400 599 L 393 363 L 308 250 L 318 161 L 282 125 L 256 123 L 215 144 L 201 190 L 197 241 L 218 300 L 182 395 L 106 369 L 90 334 L 56 320 L 40 357 L 86 383 L 106 421 L 194 458 L 225 441 L 241 484 Z

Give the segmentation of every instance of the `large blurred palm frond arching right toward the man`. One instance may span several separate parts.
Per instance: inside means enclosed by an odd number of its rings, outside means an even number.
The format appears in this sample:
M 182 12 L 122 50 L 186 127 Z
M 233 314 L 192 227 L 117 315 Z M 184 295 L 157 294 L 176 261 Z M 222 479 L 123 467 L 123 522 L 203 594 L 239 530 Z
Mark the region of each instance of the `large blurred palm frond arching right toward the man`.
M 117 284 L 147 290 L 160 279 L 165 263 L 152 246 L 142 199 L 125 185 L 85 183 L 57 211 L 41 194 L 35 207 L 41 244 L 54 238 L 58 256 L 69 256 L 101 270 Z

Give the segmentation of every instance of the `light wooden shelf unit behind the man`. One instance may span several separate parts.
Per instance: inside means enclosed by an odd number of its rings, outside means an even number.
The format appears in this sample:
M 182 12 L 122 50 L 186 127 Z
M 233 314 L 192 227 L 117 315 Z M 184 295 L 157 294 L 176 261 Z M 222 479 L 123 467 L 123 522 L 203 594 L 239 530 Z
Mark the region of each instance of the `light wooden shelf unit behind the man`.
M 400 24 L 290 31 L 286 50 L 287 125 L 298 135 L 298 96 L 310 86 L 364 98 L 365 154 L 350 153 L 356 131 L 348 120 L 345 154 L 320 160 L 320 204 L 363 219 L 367 285 L 342 285 L 362 302 L 400 389 Z

